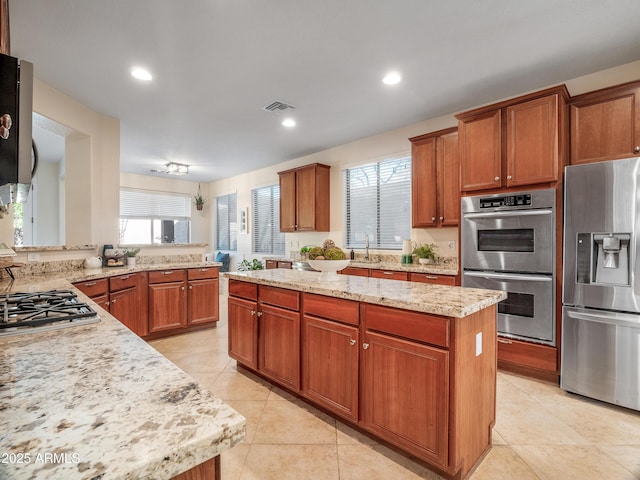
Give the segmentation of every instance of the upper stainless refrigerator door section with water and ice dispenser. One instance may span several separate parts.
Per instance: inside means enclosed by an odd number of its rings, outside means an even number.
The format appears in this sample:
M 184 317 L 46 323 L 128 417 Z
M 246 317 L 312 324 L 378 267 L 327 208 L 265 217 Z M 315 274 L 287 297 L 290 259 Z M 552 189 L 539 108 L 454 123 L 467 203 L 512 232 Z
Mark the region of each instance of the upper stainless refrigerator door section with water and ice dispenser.
M 566 168 L 563 304 L 640 313 L 639 176 L 640 158 Z

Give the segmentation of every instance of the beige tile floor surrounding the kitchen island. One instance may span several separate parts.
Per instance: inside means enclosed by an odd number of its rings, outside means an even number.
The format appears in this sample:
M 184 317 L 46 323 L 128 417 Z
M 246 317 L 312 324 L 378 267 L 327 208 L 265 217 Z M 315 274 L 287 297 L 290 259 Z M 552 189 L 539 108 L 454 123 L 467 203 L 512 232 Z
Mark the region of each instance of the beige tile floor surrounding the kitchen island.
M 217 328 L 150 342 L 247 419 L 222 454 L 223 480 L 404 480 L 438 475 L 250 373 L 227 356 L 226 296 Z M 640 414 L 498 373 L 493 448 L 472 480 L 640 479 Z

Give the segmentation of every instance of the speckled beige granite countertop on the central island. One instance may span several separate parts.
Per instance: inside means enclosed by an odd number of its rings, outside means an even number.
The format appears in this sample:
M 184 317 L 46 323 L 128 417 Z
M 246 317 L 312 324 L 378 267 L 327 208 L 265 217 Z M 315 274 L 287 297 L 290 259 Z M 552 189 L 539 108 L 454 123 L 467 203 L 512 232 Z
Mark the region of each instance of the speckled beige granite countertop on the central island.
M 287 269 L 228 272 L 235 280 L 317 293 L 417 312 L 462 318 L 507 298 L 500 290 L 450 287 L 401 280 L 337 275 L 320 281 L 320 272 Z

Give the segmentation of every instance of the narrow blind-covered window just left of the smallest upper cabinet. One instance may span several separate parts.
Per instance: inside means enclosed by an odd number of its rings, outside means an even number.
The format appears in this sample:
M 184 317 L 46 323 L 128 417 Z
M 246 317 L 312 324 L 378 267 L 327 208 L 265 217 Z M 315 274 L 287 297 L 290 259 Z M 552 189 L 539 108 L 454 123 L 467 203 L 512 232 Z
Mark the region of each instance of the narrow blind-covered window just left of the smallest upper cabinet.
M 255 253 L 284 254 L 284 233 L 280 231 L 280 186 L 251 190 L 253 210 L 252 245 Z

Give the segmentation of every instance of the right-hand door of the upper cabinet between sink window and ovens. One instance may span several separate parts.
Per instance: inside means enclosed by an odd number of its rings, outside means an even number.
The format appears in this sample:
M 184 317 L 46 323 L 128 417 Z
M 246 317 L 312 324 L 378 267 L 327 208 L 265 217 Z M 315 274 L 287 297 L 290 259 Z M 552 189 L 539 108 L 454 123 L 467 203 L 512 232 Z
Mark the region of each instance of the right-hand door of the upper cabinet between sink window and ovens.
M 460 157 L 458 132 L 438 137 L 438 221 L 443 227 L 460 222 Z

